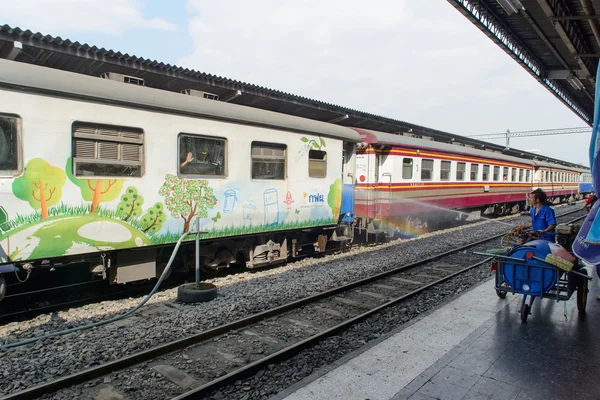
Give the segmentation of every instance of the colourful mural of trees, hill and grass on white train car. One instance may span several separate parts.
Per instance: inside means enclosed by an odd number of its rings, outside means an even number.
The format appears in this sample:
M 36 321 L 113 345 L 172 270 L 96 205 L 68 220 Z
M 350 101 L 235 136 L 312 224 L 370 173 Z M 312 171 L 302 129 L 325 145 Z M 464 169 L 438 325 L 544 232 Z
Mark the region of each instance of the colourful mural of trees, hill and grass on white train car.
M 296 158 L 311 149 L 326 157 L 324 139 L 300 140 Z M 328 225 L 341 207 L 342 181 L 334 173 L 318 185 L 289 182 L 282 191 L 268 180 L 167 173 L 152 185 L 156 179 L 83 179 L 73 170 L 72 158 L 27 160 L 12 180 L 13 196 L 0 204 L 0 262 L 174 243 L 196 218 L 208 232 L 204 239 Z

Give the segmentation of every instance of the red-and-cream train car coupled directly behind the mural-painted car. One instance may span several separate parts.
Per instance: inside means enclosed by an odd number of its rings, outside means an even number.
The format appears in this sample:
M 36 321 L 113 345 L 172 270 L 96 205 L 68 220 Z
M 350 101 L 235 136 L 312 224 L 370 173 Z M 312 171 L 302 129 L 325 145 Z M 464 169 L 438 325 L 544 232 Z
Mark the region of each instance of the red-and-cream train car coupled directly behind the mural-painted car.
M 357 225 L 436 229 L 449 221 L 523 209 L 531 160 L 454 144 L 356 129 Z

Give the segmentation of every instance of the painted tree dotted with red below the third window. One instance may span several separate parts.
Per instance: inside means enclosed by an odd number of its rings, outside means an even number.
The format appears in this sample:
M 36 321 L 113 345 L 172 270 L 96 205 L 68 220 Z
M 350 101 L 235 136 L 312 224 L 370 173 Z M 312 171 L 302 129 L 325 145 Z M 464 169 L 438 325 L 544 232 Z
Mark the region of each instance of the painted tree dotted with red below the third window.
M 192 218 L 208 217 L 208 210 L 217 204 L 213 189 L 205 180 L 180 179 L 167 174 L 158 194 L 164 196 L 165 206 L 173 218 L 184 220 L 183 231 L 190 230 Z

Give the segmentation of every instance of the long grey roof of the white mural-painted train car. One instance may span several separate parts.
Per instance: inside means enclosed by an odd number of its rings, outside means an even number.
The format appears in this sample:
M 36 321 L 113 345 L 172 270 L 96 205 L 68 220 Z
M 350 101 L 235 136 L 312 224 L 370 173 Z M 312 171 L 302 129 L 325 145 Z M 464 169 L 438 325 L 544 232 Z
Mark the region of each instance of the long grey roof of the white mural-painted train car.
M 146 86 L 0 59 L 0 86 L 125 107 L 252 124 L 360 142 L 347 127 Z

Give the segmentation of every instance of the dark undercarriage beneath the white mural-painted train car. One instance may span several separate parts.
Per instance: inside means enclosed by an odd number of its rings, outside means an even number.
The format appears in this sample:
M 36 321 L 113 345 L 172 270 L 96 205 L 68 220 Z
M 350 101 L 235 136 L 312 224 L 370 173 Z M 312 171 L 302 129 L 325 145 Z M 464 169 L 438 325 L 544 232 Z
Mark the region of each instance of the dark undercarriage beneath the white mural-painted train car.
M 343 250 L 352 241 L 348 224 L 203 240 L 200 267 L 204 273 L 234 267 L 272 267 Z M 35 292 L 78 282 L 105 281 L 119 285 L 156 279 L 163 273 L 173 249 L 170 245 L 3 265 L 0 266 L 0 300 L 5 294 Z M 196 268 L 195 258 L 192 235 L 182 244 L 171 270 L 180 275 L 192 273 Z

